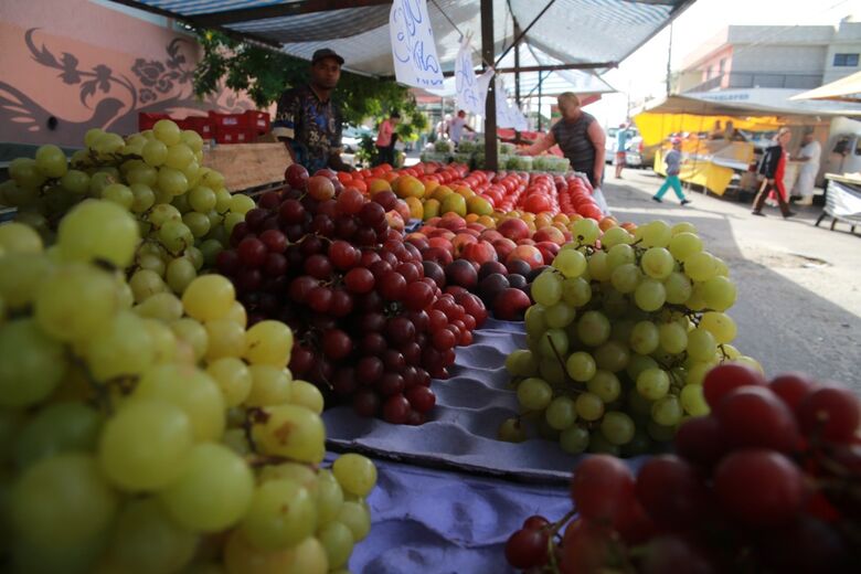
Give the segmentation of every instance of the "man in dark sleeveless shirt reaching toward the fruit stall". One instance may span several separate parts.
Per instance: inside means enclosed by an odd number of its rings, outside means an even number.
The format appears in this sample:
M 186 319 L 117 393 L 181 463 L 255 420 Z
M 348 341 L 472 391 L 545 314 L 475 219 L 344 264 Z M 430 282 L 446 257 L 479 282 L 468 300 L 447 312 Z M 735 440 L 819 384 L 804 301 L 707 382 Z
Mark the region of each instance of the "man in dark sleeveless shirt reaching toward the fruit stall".
M 518 153 L 536 156 L 559 144 L 562 153 L 574 171 L 586 174 L 593 188 L 599 188 L 604 177 L 604 130 L 591 114 L 580 107 L 580 98 L 572 92 L 559 96 L 562 119 L 556 121 L 544 138 Z

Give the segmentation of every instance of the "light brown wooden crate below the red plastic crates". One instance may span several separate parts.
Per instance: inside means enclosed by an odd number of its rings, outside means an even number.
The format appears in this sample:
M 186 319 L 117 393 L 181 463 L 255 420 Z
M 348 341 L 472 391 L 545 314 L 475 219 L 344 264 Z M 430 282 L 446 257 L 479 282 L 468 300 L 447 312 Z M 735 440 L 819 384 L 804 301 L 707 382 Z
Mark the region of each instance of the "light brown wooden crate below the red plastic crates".
M 281 142 L 234 144 L 203 150 L 203 164 L 220 171 L 231 193 L 284 181 L 293 163 Z

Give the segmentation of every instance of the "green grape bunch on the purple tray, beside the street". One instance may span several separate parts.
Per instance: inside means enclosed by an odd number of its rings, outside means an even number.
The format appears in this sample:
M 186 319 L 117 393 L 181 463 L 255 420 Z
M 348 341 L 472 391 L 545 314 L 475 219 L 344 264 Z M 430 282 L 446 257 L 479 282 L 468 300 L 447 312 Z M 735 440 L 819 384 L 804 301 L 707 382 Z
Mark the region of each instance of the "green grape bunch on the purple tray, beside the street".
M 645 454 L 685 417 L 708 414 L 711 368 L 759 368 L 730 344 L 736 328 L 724 311 L 735 286 L 689 223 L 602 234 L 584 219 L 572 233 L 532 283 L 529 349 L 506 361 L 522 414 L 499 437 L 523 440 L 523 419 L 532 419 L 567 453 Z

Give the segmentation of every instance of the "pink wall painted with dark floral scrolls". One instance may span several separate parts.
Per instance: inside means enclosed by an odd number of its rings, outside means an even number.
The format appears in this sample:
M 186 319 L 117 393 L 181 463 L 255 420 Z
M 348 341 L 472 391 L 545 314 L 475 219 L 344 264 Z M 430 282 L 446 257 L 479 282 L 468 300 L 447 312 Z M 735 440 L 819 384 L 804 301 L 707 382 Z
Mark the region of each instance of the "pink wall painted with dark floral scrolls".
M 0 2 L 0 141 L 79 147 L 93 127 L 137 131 L 140 111 L 254 107 L 226 89 L 199 102 L 200 46 L 169 25 L 89 0 Z

